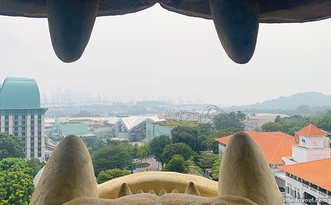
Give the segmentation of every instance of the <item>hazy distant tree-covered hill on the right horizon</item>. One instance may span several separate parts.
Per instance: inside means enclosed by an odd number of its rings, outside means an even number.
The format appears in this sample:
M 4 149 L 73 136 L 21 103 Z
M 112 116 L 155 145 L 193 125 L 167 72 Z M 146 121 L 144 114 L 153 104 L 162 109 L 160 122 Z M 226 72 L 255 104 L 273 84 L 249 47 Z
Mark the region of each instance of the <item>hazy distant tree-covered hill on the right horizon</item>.
M 255 103 L 248 107 L 255 109 L 282 108 L 294 110 L 299 105 L 309 107 L 331 106 L 331 95 L 322 92 L 300 92 L 289 97 L 281 96 L 278 99 L 266 100 L 263 103 Z

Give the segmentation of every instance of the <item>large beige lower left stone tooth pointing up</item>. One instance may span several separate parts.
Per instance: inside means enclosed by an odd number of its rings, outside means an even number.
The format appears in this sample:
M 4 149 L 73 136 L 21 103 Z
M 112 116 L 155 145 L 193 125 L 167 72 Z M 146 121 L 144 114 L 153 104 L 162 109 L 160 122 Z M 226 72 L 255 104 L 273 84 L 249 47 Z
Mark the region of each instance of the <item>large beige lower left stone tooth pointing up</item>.
M 52 152 L 30 205 L 62 205 L 78 197 L 98 198 L 98 190 L 85 144 L 68 135 Z

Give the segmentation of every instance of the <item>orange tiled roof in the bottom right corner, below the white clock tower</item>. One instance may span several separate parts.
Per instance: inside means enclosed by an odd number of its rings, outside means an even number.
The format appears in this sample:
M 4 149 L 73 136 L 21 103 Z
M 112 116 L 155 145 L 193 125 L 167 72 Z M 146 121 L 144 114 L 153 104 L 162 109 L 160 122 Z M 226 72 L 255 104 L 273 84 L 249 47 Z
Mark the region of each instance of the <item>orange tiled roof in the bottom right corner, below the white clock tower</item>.
M 331 158 L 277 167 L 324 189 L 331 190 Z

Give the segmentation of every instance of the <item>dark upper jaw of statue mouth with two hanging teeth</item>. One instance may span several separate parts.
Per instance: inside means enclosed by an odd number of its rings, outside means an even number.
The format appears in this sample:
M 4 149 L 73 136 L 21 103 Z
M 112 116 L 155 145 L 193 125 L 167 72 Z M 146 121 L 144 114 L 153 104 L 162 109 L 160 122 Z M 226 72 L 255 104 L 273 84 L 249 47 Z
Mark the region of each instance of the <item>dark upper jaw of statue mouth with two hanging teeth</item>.
M 0 15 L 48 18 L 54 51 L 78 60 L 97 16 L 123 15 L 160 3 L 183 15 L 212 19 L 227 55 L 247 63 L 259 23 L 302 23 L 331 17 L 331 0 L 0 0 Z

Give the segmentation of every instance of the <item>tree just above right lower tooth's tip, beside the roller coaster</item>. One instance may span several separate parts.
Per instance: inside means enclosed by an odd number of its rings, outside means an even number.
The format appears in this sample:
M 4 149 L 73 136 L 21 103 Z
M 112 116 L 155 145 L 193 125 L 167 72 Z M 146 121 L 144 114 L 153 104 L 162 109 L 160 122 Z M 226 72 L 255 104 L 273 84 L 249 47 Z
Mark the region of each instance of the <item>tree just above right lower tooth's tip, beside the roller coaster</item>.
M 240 111 L 228 114 L 221 113 L 214 117 L 214 127 L 216 129 L 226 129 L 229 127 L 243 128 L 243 120 L 245 118 L 246 115 Z

